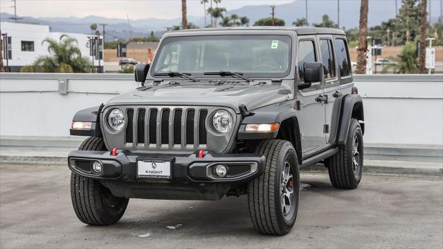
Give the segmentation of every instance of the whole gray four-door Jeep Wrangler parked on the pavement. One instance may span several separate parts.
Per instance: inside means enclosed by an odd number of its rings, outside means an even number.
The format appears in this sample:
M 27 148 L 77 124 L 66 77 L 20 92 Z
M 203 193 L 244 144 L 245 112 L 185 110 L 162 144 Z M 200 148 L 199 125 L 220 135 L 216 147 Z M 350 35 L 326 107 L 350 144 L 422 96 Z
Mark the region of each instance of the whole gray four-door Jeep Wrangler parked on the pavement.
M 363 167 L 363 103 L 345 33 L 331 28 L 174 31 L 140 87 L 73 117 L 88 136 L 69 153 L 75 214 L 116 223 L 129 198 L 219 200 L 248 195 L 262 234 L 287 234 L 299 169 L 323 163 L 338 189 Z

